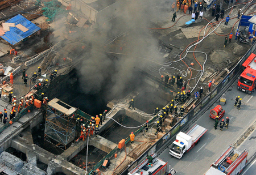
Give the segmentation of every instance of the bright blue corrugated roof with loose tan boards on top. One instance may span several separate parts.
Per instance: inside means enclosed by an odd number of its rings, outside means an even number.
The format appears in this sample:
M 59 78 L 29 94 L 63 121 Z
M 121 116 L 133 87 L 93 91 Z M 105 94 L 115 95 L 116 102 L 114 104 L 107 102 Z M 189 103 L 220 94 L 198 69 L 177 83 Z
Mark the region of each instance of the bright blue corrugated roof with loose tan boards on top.
M 2 39 L 6 40 L 12 45 L 22 41 L 26 37 L 40 30 L 40 27 L 36 26 L 34 23 L 31 23 L 30 20 L 27 20 L 22 15 L 14 16 L 14 18 L 7 20 L 6 23 L 15 23 L 15 25 L 22 24 L 28 29 L 27 32 L 22 32 L 16 27 L 10 27 L 10 31 L 6 31 L 5 35 L 1 36 Z

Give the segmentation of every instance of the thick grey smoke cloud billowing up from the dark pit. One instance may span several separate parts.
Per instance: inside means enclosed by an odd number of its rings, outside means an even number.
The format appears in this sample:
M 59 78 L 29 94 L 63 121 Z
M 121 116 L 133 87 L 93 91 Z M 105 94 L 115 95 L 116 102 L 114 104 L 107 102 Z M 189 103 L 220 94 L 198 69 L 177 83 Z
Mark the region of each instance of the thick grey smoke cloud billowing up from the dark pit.
M 106 22 L 104 28 L 96 29 L 93 35 L 85 34 L 91 47 L 90 52 L 82 56 L 84 60 L 79 68 L 80 86 L 85 93 L 94 94 L 104 89 L 114 97 L 127 87 L 139 87 L 141 80 L 135 74 L 135 67 L 146 68 L 148 61 L 142 59 L 146 56 L 157 58 L 158 41 L 145 28 L 150 26 L 153 17 L 150 3 L 126 1 L 117 11 L 116 18 Z M 121 36 L 125 40 L 122 50 L 119 45 L 113 45 L 114 42 L 104 47 L 108 43 L 105 41 L 120 33 L 125 33 Z M 114 54 L 115 57 L 111 57 L 105 51 L 127 55 Z

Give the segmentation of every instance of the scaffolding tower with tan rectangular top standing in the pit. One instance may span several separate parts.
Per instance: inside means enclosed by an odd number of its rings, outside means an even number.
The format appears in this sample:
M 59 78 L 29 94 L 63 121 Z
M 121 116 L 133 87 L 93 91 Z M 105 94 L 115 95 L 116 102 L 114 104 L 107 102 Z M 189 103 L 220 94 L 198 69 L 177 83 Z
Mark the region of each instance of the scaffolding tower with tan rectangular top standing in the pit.
M 46 112 L 44 141 L 66 150 L 67 145 L 75 139 L 76 119 L 73 114 L 76 109 L 59 99 L 53 99 L 49 101 Z

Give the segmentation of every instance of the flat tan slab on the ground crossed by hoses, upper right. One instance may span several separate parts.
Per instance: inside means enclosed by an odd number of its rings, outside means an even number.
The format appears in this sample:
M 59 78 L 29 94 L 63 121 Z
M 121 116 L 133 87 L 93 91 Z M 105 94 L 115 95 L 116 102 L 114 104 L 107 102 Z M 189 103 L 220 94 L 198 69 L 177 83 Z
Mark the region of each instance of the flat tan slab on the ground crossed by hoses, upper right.
M 192 39 L 192 38 L 198 37 L 199 32 L 200 32 L 201 28 L 203 28 L 203 27 L 204 27 L 204 25 L 199 25 L 199 26 L 195 26 L 195 27 L 181 28 L 181 31 L 183 32 L 183 34 L 185 35 L 185 37 L 187 39 Z M 208 28 L 207 28 L 207 31 L 208 31 Z M 211 31 L 212 31 L 212 29 L 210 29 L 209 32 L 211 32 Z M 220 27 L 218 27 L 215 32 L 223 33 L 223 31 Z M 204 29 L 200 33 L 200 36 L 203 36 L 203 35 L 204 35 Z M 213 32 L 210 35 L 215 35 L 215 34 Z

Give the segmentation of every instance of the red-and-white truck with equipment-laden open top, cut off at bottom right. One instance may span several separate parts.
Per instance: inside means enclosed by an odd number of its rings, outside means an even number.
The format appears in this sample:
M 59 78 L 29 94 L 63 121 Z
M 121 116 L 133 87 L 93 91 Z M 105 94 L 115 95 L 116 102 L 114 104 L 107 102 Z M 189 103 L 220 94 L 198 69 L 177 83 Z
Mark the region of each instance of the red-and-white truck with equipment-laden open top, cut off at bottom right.
M 205 175 L 237 175 L 240 174 L 247 163 L 247 150 L 238 151 L 229 146 L 214 163 Z

